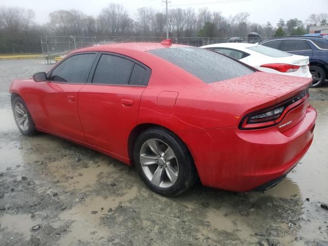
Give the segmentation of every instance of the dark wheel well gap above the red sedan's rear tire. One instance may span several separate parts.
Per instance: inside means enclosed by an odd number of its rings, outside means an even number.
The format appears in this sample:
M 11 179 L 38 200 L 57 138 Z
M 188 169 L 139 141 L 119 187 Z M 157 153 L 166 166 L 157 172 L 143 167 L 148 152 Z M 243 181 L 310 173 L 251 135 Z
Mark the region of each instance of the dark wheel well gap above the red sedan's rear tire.
M 160 126 L 160 125 L 157 125 L 157 124 L 148 124 L 148 123 L 146 123 L 146 124 L 140 124 L 140 125 L 136 126 L 136 127 L 131 131 L 131 133 L 130 133 L 130 135 L 129 135 L 129 140 L 128 140 L 128 152 L 129 152 L 129 158 L 130 158 L 130 163 L 131 163 L 131 165 L 133 165 L 133 147 L 134 147 L 135 141 L 137 140 L 138 136 L 139 136 L 142 132 L 144 132 L 144 131 L 146 131 L 147 129 L 152 128 L 152 127 L 163 128 L 163 129 L 166 129 L 167 131 L 172 132 L 170 129 L 168 129 L 168 128 L 166 128 L 166 127 L 163 127 L 163 126 Z M 172 132 L 172 133 L 173 133 L 174 135 L 176 135 L 174 132 Z M 176 135 L 176 136 L 177 136 L 177 135 Z M 177 137 L 181 140 L 182 144 L 184 144 L 184 145 L 186 146 L 186 148 L 187 148 L 187 150 L 188 150 L 188 152 L 189 152 L 189 154 L 190 154 L 192 160 L 194 160 L 194 158 L 193 158 L 193 156 L 192 156 L 192 154 L 191 154 L 191 152 L 190 152 L 188 146 L 185 144 L 185 142 L 182 141 L 182 139 L 181 139 L 179 136 L 177 136 Z

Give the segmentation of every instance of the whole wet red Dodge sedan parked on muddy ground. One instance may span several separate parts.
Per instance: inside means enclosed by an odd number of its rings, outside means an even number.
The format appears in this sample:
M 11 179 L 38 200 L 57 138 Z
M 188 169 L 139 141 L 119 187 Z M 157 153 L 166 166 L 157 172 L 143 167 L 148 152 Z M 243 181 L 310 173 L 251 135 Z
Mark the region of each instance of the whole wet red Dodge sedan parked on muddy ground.
M 18 129 L 135 165 L 153 191 L 265 190 L 309 149 L 310 78 L 259 72 L 216 52 L 112 44 L 70 53 L 10 87 Z

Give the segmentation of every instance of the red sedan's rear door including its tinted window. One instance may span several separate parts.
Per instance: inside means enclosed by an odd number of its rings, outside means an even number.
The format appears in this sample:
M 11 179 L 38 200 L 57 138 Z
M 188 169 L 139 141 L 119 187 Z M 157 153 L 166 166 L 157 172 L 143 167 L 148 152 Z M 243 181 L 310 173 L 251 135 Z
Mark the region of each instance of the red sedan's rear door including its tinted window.
M 78 112 L 88 144 L 128 158 L 128 138 L 151 70 L 138 61 L 102 53 L 90 83 L 80 91 Z

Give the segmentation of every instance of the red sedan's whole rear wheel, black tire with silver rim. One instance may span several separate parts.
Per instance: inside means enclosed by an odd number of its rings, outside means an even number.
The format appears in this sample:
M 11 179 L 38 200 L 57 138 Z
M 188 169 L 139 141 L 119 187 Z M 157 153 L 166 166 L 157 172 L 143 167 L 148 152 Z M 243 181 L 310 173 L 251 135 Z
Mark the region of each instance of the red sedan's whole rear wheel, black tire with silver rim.
M 141 179 L 160 195 L 177 196 L 197 179 L 187 147 L 166 129 L 156 127 L 142 132 L 136 140 L 133 157 Z

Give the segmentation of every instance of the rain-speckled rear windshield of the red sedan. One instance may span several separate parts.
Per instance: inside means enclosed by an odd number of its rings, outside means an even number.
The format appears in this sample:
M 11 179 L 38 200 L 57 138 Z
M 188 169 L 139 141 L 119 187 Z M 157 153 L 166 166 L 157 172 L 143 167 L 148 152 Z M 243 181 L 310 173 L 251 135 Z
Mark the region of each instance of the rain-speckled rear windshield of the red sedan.
M 236 60 L 207 49 L 178 47 L 150 50 L 160 58 L 198 77 L 205 83 L 240 77 L 254 71 Z

